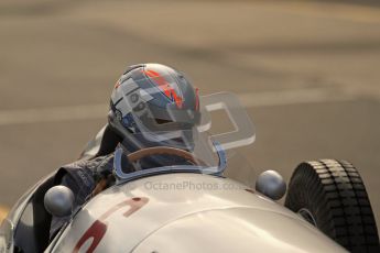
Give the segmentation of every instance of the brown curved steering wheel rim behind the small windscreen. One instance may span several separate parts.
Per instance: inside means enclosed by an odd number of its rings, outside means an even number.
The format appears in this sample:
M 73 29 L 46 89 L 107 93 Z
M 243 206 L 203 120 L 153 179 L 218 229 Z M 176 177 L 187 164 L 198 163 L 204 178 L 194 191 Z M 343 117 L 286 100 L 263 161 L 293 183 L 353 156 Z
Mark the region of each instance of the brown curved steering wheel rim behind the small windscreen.
M 129 162 L 134 163 L 139 160 L 142 160 L 146 156 L 152 156 L 152 155 L 175 155 L 191 162 L 193 165 L 198 165 L 198 166 L 206 165 L 203 161 L 199 161 L 198 158 L 196 158 L 191 152 L 175 148 L 175 147 L 169 147 L 169 146 L 154 146 L 154 147 L 142 148 L 129 154 L 128 160 Z

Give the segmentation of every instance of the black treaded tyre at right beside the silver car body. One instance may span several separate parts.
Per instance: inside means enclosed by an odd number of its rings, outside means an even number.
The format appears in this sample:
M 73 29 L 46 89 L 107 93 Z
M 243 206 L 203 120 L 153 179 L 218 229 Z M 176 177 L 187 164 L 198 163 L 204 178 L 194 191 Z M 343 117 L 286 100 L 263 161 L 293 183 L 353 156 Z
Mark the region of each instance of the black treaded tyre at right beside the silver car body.
M 350 252 L 380 252 L 366 187 L 348 162 L 321 160 L 300 164 L 289 184 L 285 207 Z

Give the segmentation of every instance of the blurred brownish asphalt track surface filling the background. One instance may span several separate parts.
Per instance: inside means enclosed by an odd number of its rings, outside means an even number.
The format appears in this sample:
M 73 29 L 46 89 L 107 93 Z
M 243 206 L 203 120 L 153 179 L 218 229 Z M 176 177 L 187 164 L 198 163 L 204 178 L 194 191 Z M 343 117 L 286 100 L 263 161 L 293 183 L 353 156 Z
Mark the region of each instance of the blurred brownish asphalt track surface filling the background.
M 258 172 L 352 162 L 379 223 L 380 9 L 326 1 L 1 1 L 0 206 L 74 161 L 121 72 L 144 62 L 239 94 Z

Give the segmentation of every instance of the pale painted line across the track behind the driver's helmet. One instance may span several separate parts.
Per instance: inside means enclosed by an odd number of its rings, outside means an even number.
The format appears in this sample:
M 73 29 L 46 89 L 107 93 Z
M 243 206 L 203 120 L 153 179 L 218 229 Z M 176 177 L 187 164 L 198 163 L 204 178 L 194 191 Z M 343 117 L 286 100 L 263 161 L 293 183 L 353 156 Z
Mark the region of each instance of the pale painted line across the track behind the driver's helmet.
M 326 89 L 297 89 L 239 95 L 247 108 L 352 100 L 352 96 Z M 0 110 L 0 127 L 40 122 L 107 119 L 107 105 Z

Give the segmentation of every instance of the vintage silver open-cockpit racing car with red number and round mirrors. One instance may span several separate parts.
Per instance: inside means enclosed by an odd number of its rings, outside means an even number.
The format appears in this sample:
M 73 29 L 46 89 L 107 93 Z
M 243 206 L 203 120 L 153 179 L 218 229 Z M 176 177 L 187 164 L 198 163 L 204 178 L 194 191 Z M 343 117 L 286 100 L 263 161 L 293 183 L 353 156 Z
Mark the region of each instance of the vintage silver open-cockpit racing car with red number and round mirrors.
M 146 147 L 129 154 L 184 157 L 176 165 L 124 173 L 122 148 L 106 125 L 83 160 L 113 152 L 115 184 L 73 210 L 73 193 L 54 184 L 53 172 L 14 205 L 0 229 L 0 252 L 380 252 L 365 185 L 348 162 L 300 164 L 286 190 L 273 170 L 256 189 L 226 178 L 247 161 L 237 147 L 254 141 L 254 130 L 237 97 L 202 98 L 203 119 L 194 153 Z M 210 112 L 225 110 L 234 131 L 211 134 Z M 52 215 L 70 220 L 50 239 Z

